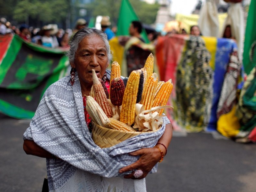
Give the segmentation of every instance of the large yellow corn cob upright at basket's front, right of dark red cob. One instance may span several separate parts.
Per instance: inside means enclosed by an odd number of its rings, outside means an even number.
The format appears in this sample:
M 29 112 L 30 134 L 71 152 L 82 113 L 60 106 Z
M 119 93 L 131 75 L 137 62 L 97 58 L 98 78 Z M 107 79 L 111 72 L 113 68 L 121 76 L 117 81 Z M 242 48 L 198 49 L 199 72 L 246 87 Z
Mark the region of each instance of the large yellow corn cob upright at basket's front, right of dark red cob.
M 137 100 L 138 88 L 140 82 L 140 72 L 133 70 L 128 78 L 126 88 L 124 90 L 124 97 L 122 108 L 120 111 L 120 121 L 128 124 L 133 124 L 135 119 L 135 105 Z

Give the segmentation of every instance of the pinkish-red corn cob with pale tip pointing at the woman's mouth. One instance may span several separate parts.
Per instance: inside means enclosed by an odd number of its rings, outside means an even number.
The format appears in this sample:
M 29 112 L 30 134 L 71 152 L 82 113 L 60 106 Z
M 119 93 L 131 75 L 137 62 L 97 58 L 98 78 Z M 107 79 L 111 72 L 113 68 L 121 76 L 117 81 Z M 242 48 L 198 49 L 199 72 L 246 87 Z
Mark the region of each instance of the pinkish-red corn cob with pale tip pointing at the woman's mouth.
M 108 103 L 108 98 L 106 96 L 104 88 L 102 87 L 94 69 L 92 69 L 92 81 L 95 100 L 99 103 L 105 114 L 108 117 L 112 117 L 112 108 Z

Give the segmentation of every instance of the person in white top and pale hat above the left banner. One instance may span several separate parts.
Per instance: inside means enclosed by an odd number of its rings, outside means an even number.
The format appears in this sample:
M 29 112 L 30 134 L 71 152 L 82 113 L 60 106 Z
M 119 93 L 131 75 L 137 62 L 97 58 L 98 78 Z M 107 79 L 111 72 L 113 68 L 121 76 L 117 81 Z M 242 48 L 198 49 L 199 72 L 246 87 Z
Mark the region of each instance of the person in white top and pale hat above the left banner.
M 58 40 L 56 36 L 51 36 L 53 28 L 50 26 L 44 26 L 42 28 L 42 45 L 45 47 L 51 47 L 51 48 L 56 48 L 59 46 Z

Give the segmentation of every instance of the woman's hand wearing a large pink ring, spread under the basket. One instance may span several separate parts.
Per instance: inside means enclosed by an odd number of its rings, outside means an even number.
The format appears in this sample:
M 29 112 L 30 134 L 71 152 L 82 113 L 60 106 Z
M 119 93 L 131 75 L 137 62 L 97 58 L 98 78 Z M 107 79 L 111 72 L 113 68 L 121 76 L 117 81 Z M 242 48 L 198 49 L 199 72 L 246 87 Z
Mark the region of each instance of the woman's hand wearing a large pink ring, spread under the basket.
M 156 165 L 156 163 L 161 159 L 161 154 L 157 148 L 142 148 L 137 151 L 129 153 L 132 156 L 140 156 L 138 161 L 133 164 L 130 164 L 126 167 L 123 167 L 119 170 L 119 173 L 132 171 L 132 170 L 141 170 L 143 174 L 135 178 L 133 171 L 131 174 L 125 175 L 125 179 L 143 179 L 148 175 L 148 172 Z

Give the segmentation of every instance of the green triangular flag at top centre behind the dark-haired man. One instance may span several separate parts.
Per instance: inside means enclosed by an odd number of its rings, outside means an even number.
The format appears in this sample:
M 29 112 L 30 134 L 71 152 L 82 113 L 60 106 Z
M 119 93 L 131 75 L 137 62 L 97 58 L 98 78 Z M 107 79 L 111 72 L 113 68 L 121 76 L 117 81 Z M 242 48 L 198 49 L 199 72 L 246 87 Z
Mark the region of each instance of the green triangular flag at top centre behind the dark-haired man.
M 140 21 L 140 19 L 133 10 L 129 0 L 122 0 L 117 21 L 116 35 L 129 35 L 129 27 L 132 21 Z M 142 30 L 141 36 L 146 43 L 149 43 L 145 29 Z

